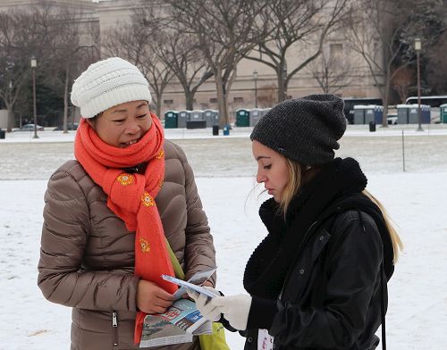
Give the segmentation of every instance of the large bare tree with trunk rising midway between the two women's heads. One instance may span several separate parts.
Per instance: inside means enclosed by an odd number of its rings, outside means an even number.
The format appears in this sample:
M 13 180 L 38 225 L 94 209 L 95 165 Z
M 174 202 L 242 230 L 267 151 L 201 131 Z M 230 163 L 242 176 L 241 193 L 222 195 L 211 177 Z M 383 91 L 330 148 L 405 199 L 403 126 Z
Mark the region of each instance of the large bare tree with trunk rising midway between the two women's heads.
M 197 43 L 215 77 L 219 123 L 227 124 L 228 94 L 240 59 L 265 35 L 260 0 L 167 0 L 166 9 L 176 26 Z

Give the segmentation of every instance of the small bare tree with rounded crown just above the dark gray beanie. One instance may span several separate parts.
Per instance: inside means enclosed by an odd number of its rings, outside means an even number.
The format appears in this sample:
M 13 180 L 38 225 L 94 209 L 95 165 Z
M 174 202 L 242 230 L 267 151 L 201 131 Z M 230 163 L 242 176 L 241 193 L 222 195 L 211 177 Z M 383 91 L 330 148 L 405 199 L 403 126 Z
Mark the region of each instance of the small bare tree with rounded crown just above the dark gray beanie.
M 342 47 L 341 44 L 333 44 Z M 332 47 L 332 46 L 330 46 Z M 325 94 L 336 94 L 350 85 L 351 63 L 342 51 L 325 50 L 309 64 L 309 71 Z

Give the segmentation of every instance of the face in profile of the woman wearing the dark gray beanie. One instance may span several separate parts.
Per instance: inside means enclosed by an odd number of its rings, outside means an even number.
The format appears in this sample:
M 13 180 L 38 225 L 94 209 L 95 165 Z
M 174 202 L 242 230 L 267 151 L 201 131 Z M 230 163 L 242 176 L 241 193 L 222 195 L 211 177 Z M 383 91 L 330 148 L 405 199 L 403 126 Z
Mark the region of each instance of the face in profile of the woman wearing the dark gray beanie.
M 274 196 L 275 202 L 279 202 L 289 181 L 289 169 L 285 157 L 256 140 L 251 147 L 257 161 L 257 182 L 264 183 L 268 194 Z

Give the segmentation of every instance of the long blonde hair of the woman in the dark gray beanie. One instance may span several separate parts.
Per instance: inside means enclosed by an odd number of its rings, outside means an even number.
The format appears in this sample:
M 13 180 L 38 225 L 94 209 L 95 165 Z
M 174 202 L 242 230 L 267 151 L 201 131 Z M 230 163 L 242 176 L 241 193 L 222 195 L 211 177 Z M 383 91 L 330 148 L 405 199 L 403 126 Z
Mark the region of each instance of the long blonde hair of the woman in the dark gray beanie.
M 284 219 L 287 214 L 287 210 L 289 209 L 289 205 L 291 204 L 291 199 L 298 192 L 303 183 L 306 183 L 308 179 L 310 179 L 314 174 L 310 174 L 309 168 L 299 162 L 292 161 L 289 158 L 285 158 L 287 162 L 287 170 L 289 171 L 289 181 L 287 185 L 283 189 L 283 193 L 281 194 L 281 198 L 279 201 L 279 207 L 281 212 L 283 213 Z M 397 230 L 394 227 L 394 224 L 386 212 L 384 205 L 379 202 L 375 196 L 371 195 L 366 189 L 362 191 L 362 193 L 367 196 L 382 212 L 382 216 L 384 217 L 386 229 L 390 234 L 390 238 L 392 240 L 392 251 L 393 258 L 392 262 L 396 263 L 399 257 L 399 251 L 403 249 L 403 244 L 401 238 L 399 237 Z

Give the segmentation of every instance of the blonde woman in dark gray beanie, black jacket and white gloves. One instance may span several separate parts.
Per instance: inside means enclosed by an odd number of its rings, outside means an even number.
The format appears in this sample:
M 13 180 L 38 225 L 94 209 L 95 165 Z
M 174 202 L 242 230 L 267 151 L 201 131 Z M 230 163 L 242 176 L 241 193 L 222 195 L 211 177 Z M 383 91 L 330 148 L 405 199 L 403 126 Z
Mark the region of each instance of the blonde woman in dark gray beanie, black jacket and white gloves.
M 189 291 L 209 320 L 238 329 L 245 349 L 375 349 L 401 240 L 352 158 L 334 158 L 342 99 L 276 105 L 251 133 L 268 235 L 247 263 L 249 295 Z

